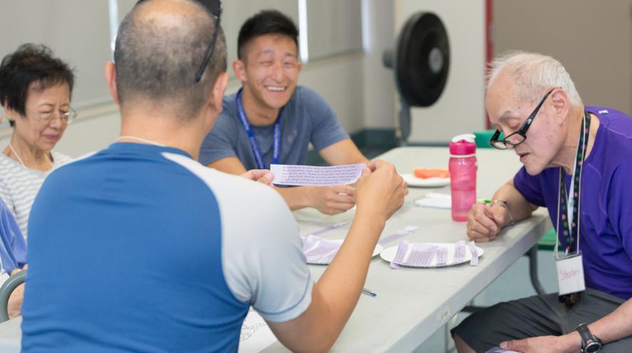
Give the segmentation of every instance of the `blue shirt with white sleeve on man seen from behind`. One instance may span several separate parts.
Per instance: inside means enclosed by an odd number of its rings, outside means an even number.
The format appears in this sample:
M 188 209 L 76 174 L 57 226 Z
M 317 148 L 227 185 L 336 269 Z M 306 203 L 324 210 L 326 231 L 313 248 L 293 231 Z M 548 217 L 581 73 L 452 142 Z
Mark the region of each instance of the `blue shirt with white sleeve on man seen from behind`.
M 29 220 L 23 352 L 235 352 L 312 280 L 285 201 L 175 148 L 114 143 L 55 170 Z

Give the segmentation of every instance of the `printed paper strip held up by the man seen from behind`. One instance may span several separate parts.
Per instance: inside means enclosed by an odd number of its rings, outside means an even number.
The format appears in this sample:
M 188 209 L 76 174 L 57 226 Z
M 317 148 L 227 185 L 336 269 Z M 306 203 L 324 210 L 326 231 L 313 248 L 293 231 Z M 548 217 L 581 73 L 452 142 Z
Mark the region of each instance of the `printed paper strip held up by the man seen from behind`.
M 312 165 L 272 164 L 270 171 L 275 175 L 272 184 L 295 186 L 330 186 L 355 183 L 366 164 L 333 165 L 314 167 Z

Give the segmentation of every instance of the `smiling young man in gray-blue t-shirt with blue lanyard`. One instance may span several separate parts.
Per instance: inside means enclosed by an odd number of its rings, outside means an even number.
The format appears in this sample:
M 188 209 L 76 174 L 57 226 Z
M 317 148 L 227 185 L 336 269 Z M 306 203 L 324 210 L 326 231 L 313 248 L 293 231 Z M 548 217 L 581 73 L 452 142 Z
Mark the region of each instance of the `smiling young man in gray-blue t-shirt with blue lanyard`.
M 304 165 L 310 143 L 331 165 L 368 162 L 325 100 L 297 86 L 297 37 L 295 24 L 279 11 L 262 11 L 245 21 L 233 62 L 242 88 L 225 97 L 200 163 L 233 174 L 272 163 Z M 312 207 L 333 215 L 355 204 L 349 185 L 277 190 L 292 210 Z

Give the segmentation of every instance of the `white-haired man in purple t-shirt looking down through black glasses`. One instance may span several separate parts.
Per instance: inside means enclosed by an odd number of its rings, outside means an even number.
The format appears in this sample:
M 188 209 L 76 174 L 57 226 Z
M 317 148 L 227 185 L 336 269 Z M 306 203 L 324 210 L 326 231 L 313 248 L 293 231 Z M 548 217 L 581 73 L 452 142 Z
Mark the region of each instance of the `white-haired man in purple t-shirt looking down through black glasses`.
M 632 347 L 632 119 L 584 106 L 549 56 L 510 52 L 492 63 L 486 94 L 499 130 L 491 145 L 524 167 L 476 204 L 467 232 L 494 240 L 546 207 L 559 235 L 559 293 L 503 302 L 452 331 L 459 352 L 630 352 Z M 504 133 L 504 138 L 501 137 Z

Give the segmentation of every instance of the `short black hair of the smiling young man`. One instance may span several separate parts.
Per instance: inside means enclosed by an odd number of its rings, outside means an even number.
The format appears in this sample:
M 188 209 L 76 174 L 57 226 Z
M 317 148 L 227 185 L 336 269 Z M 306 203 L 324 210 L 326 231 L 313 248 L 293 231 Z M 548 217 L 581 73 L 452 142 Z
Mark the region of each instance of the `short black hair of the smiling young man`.
M 292 19 L 276 10 L 264 10 L 247 19 L 241 26 L 237 39 L 237 57 L 243 60 L 245 58 L 243 52 L 245 45 L 250 40 L 265 34 L 290 37 L 298 48 L 298 29 Z

